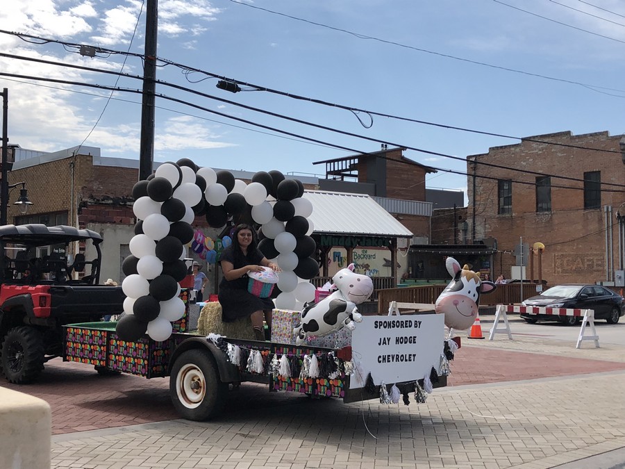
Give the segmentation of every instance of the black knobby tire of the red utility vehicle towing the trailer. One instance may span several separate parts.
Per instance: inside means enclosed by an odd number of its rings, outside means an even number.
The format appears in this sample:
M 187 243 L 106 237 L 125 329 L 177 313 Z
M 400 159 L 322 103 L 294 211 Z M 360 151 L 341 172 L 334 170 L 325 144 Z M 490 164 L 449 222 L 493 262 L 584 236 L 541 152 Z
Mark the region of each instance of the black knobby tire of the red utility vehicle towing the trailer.
M 44 344 L 39 331 L 28 326 L 10 329 L 2 342 L 1 361 L 10 383 L 33 381 L 44 368 Z

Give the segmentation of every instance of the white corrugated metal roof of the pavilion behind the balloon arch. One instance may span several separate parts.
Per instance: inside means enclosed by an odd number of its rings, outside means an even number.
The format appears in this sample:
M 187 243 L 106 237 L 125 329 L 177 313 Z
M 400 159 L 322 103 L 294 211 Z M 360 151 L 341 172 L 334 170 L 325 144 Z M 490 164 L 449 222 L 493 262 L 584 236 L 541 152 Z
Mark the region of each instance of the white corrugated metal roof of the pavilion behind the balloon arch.
M 306 190 L 314 233 L 412 238 L 412 233 L 366 194 Z

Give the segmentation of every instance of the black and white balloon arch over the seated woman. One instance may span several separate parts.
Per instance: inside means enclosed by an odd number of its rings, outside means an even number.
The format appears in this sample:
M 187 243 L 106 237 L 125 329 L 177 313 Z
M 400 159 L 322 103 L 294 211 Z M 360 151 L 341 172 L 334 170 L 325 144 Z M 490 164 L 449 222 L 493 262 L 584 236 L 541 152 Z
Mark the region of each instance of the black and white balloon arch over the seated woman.
M 198 168 L 188 158 L 163 163 L 136 183 L 133 212 L 138 222 L 131 255 L 122 263 L 126 314 L 117 322 L 117 336 L 134 341 L 147 332 L 161 341 L 172 335 L 172 322 L 185 313 L 178 282 L 187 274 L 185 245 L 193 240 L 196 215 L 221 228 L 228 217 L 249 212 L 263 233 L 258 248 L 282 270 L 276 308 L 297 309 L 313 301 L 310 279 L 319 274 L 312 258 L 313 222 L 308 220 L 313 205 L 302 195 L 303 184 L 279 171 L 257 172 L 246 184 L 229 171 Z

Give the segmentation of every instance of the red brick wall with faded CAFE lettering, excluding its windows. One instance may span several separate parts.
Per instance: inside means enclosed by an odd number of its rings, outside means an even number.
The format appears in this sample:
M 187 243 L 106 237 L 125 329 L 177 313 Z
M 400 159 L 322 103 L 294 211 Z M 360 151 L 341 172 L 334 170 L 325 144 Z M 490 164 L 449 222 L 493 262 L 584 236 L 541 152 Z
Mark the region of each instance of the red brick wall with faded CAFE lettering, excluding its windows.
M 601 171 L 601 183 L 625 183 L 625 165 L 619 152 L 621 135 L 609 136 L 607 132 L 571 135 L 569 132 L 539 135 L 533 140 L 557 142 L 578 147 L 607 149 L 599 152 L 587 149 L 560 147 L 523 140 L 517 145 L 493 147 L 487 154 L 469 156 L 478 162 L 493 163 L 505 168 L 477 166 L 476 191 L 472 190 L 473 165 L 467 163 L 469 208 L 467 217 L 472 221 L 476 211 L 476 238 L 497 238 L 501 253 L 494 263 L 496 270 L 510 272 L 515 264 L 511 255 L 519 238 L 532 245 L 542 242 L 542 278 L 550 284 L 564 282 L 590 282 L 606 280 L 608 258 L 618 257 L 616 210 L 625 201 L 625 191 L 602 186 L 601 209 L 585 210 L 583 182 L 551 178 L 551 212 L 536 213 L 536 174 L 512 172 L 506 168 L 531 170 L 542 174 L 558 174 L 583 179 L 584 172 Z M 512 215 L 497 215 L 497 179 L 512 179 Z M 527 182 L 530 184 L 524 184 Z M 557 187 L 563 186 L 563 187 Z M 603 206 L 612 206 L 612 252 L 606 257 L 606 227 Z M 537 258 L 535 258 L 537 261 Z M 612 269 L 610 269 L 612 270 Z M 527 268 L 527 277 L 529 267 Z M 537 278 L 535 262 L 534 278 Z

